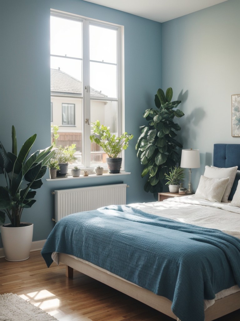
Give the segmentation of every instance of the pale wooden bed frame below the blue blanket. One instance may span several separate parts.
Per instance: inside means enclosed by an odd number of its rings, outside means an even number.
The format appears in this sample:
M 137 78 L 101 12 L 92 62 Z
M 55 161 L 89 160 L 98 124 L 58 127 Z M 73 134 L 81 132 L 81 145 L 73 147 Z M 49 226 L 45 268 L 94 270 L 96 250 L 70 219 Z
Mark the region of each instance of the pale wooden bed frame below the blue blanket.
M 66 265 L 66 276 L 68 278 L 73 277 L 73 269 L 75 269 L 76 271 L 84 273 L 97 281 L 147 304 L 149 307 L 154 308 L 175 320 L 179 320 L 171 310 L 172 301 L 167 298 L 156 295 L 117 275 L 112 273 L 109 274 L 107 270 L 99 269 L 96 265 L 89 265 L 88 263 L 76 260 L 74 257 L 67 254 L 59 253 L 59 262 Z M 215 303 L 205 311 L 205 321 L 215 320 L 238 309 L 240 309 L 240 291 L 216 300 Z

